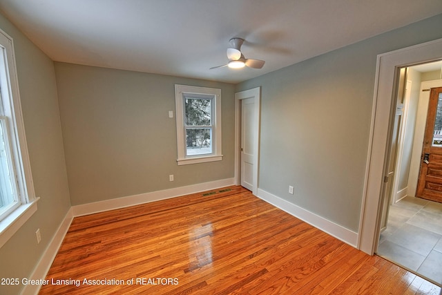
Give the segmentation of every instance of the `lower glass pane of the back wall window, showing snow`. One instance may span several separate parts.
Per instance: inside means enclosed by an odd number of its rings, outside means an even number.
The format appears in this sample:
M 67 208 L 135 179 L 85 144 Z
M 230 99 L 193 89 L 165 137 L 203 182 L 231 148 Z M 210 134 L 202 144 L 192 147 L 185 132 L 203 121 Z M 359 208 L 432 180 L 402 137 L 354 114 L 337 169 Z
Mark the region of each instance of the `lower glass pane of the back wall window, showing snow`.
M 212 153 L 212 129 L 186 129 L 186 155 Z

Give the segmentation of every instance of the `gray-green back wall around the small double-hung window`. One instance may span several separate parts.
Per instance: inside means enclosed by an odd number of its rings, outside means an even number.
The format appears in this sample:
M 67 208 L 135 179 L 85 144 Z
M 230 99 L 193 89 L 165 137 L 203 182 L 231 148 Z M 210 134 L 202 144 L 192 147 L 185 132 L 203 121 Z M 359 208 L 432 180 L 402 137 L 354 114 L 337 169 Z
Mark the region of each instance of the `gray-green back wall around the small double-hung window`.
M 58 62 L 55 72 L 73 205 L 233 178 L 233 84 Z M 221 88 L 222 161 L 177 165 L 175 84 Z

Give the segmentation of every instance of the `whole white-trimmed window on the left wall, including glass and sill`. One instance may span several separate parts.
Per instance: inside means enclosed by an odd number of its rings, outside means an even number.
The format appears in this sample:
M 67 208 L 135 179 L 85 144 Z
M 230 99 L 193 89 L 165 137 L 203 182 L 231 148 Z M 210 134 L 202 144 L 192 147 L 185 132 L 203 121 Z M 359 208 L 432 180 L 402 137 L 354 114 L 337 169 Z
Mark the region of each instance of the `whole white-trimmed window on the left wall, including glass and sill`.
M 0 247 L 37 210 L 12 39 L 0 30 Z

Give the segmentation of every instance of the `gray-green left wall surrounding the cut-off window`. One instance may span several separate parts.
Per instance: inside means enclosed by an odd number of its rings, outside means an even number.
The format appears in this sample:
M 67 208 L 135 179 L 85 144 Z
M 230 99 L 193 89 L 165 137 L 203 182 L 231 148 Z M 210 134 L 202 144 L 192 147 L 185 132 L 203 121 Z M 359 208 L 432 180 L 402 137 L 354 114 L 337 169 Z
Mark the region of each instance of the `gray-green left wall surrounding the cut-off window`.
M 17 76 L 37 212 L 0 248 L 0 278 L 28 278 L 70 208 L 54 65 L 0 15 L 0 29 L 14 39 Z M 37 245 L 35 231 L 41 231 Z M 0 294 L 22 286 L 0 285 Z

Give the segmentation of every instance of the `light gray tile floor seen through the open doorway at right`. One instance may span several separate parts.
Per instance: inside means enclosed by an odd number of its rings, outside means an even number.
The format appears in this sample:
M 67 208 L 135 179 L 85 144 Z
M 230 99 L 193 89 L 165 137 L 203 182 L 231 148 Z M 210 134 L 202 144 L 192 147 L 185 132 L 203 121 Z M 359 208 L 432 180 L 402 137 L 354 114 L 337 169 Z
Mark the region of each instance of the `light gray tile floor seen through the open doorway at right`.
M 442 285 L 442 204 L 405 197 L 390 206 L 377 254 Z

